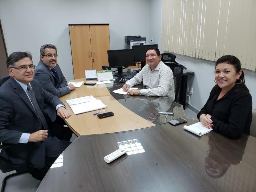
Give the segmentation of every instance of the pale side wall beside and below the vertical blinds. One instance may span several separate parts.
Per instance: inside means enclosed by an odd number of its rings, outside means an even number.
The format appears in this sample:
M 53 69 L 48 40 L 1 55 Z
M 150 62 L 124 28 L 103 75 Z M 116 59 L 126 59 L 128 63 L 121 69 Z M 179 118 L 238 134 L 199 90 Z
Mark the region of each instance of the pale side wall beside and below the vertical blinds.
M 151 0 L 150 4 L 150 33 L 149 38 L 158 40 L 161 45 L 161 26 L 162 23 L 162 0 Z M 161 50 L 161 46 L 158 46 Z M 174 53 L 176 61 L 186 66 L 188 70 L 194 71 L 194 76 L 188 77 L 188 85 L 193 88 L 190 104 L 200 110 L 206 103 L 214 83 L 215 63 L 209 60 L 193 58 L 189 56 Z M 252 95 L 252 108 L 256 109 L 256 72 L 243 69 L 245 75 L 245 84 Z

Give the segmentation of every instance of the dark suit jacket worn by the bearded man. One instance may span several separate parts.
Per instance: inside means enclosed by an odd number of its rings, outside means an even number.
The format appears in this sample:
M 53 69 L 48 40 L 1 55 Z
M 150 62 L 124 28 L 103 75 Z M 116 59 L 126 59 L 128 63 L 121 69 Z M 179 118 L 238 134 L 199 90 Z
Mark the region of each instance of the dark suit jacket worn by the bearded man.
M 59 76 L 59 81 L 57 81 L 57 78 L 53 75 L 53 72 L 49 69 L 49 67 L 40 60 L 35 69 L 34 78 L 39 81 L 41 87 L 43 87 L 46 91 L 56 95 L 57 97 L 61 97 L 70 93 L 70 89 L 67 87 L 68 83 L 58 64 L 56 64 L 55 70 Z

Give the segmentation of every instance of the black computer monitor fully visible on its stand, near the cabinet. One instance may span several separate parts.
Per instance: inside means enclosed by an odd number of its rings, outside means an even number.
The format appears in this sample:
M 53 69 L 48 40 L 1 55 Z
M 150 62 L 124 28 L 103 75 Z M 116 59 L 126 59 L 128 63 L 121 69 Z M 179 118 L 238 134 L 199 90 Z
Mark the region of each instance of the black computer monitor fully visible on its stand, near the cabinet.
M 123 67 L 135 66 L 134 50 L 133 49 L 120 49 L 108 50 L 108 64 L 110 67 L 117 67 L 118 72 L 115 76 L 122 77 L 128 73 L 123 73 Z

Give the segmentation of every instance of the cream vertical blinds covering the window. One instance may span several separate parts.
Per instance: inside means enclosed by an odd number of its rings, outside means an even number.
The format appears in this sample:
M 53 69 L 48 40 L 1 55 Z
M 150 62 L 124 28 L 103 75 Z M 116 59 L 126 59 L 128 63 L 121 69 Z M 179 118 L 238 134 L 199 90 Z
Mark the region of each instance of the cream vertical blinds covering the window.
M 211 61 L 234 55 L 255 71 L 255 0 L 163 0 L 162 6 L 164 51 Z

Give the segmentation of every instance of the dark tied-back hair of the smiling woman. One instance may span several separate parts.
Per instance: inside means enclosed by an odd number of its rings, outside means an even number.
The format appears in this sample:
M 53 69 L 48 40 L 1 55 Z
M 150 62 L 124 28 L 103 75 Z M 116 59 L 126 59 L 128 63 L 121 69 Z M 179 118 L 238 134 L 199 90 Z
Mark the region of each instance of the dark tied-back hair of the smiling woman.
M 241 69 L 241 63 L 239 61 L 239 59 L 233 55 L 224 55 L 222 57 L 220 57 L 217 61 L 216 61 L 216 65 L 215 65 L 215 68 L 216 66 L 219 64 L 219 63 L 227 63 L 227 64 L 230 64 L 230 65 L 233 65 L 236 72 L 238 73 Z M 237 84 L 237 87 L 238 88 L 244 88 L 245 90 L 248 90 L 249 89 L 246 87 L 245 85 L 245 81 L 244 81 L 244 72 L 242 70 L 242 75 L 240 76 L 240 79 L 242 80 L 242 83 L 241 84 Z M 238 79 L 238 83 L 240 82 L 240 80 Z

